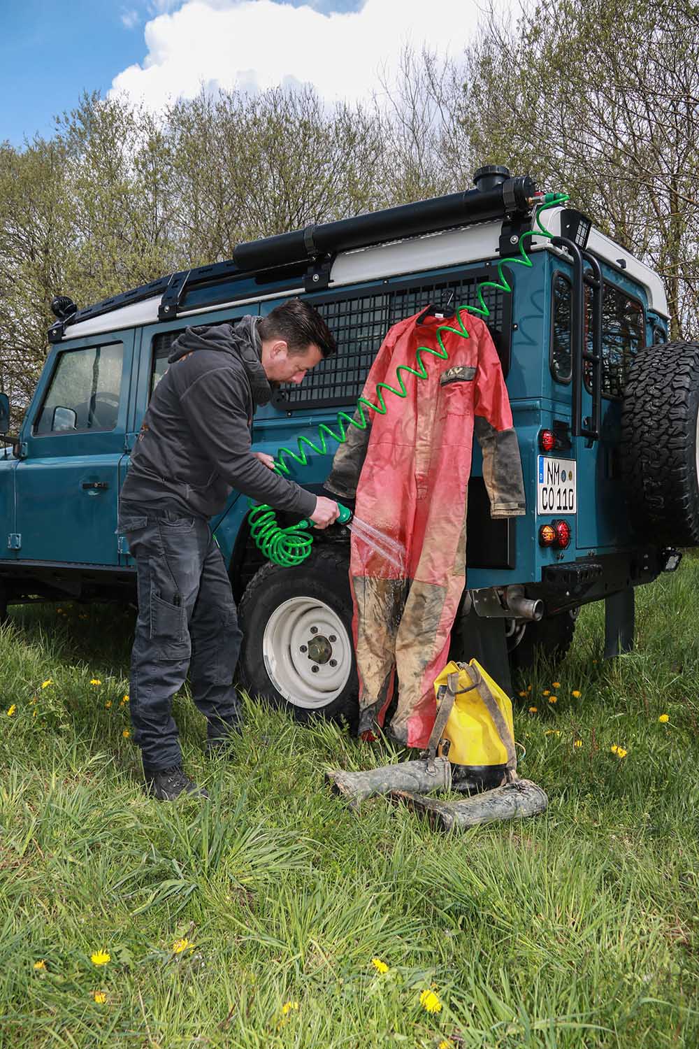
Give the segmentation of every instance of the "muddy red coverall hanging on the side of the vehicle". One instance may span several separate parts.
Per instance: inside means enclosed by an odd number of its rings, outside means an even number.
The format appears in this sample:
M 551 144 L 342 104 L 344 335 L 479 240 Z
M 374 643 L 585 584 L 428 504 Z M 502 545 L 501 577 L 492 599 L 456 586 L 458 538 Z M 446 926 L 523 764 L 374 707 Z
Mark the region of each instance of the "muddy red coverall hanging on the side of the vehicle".
M 365 410 L 370 426 L 349 427 L 326 481 L 341 498 L 356 493 L 356 517 L 407 552 L 401 572 L 353 535 L 350 579 L 358 731 L 383 725 L 397 675 L 398 703 L 388 728 L 410 747 L 428 743 L 435 718 L 433 683 L 446 662 L 465 582 L 474 428 L 492 516 L 525 512 L 520 451 L 498 354 L 480 318 L 459 316 L 468 338 L 458 334 L 458 317 L 444 321 L 424 311 L 389 330 L 364 387 L 363 395 L 373 404 L 378 403 L 377 383 L 399 388 L 398 365 L 419 370 L 419 346 L 439 348 L 440 326 L 449 359 L 422 354 L 427 379 L 401 372 L 407 398 L 384 391 L 386 414 Z M 443 330 L 444 325 L 457 333 Z

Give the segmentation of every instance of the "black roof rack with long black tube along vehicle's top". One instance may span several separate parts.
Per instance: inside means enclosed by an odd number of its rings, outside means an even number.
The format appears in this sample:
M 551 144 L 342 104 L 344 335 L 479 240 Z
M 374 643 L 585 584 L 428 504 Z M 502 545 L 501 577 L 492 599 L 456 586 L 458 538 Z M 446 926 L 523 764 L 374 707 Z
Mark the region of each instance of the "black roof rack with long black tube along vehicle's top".
M 161 296 L 158 318 L 174 320 L 185 292 L 212 284 L 212 303 L 220 301 L 220 293 L 215 288 L 226 279 L 264 275 L 264 282 L 270 284 L 277 275 L 280 282 L 284 277 L 298 276 L 307 291 L 320 291 L 328 286 L 332 261 L 340 252 L 493 219 L 503 219 L 509 228 L 530 215 L 537 188 L 529 175 L 511 178 L 507 168 L 492 165 L 479 168 L 474 181 L 476 189 L 461 193 L 238 244 L 233 258 L 225 262 L 179 271 L 59 318 L 48 329 L 49 342 L 60 342 L 66 328 L 73 324 L 158 294 Z

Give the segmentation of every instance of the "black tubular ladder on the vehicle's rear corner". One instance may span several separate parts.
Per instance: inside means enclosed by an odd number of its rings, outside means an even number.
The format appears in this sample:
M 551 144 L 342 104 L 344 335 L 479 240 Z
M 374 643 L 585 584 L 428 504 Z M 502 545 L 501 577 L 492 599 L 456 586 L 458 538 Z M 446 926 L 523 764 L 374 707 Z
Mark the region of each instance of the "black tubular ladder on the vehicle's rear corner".
M 554 248 L 565 248 L 573 260 L 573 284 L 570 303 L 570 356 L 572 364 L 572 419 L 574 437 L 587 437 L 588 447 L 599 437 L 602 421 L 602 270 L 597 260 L 583 252 L 568 237 L 552 237 Z M 589 262 L 592 274 L 586 274 L 584 261 Z M 593 290 L 592 350 L 585 338 L 585 284 Z M 592 365 L 592 418 L 583 421 L 584 362 Z

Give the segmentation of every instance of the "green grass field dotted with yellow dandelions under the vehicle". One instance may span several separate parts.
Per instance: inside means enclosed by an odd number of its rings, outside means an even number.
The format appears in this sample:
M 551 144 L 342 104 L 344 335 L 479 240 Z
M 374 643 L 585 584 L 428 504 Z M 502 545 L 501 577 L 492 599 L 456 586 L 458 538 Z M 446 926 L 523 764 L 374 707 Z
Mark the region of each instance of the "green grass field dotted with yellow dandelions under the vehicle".
M 178 699 L 212 800 L 147 799 L 125 734 L 133 614 L 15 608 L 0 1045 L 699 1045 L 697 595 L 685 557 L 637 594 L 637 649 L 611 663 L 602 607 L 584 611 L 565 664 L 519 686 L 521 772 L 548 812 L 460 837 L 383 799 L 352 814 L 324 767 L 386 751 L 254 703 L 234 759 L 206 762 Z

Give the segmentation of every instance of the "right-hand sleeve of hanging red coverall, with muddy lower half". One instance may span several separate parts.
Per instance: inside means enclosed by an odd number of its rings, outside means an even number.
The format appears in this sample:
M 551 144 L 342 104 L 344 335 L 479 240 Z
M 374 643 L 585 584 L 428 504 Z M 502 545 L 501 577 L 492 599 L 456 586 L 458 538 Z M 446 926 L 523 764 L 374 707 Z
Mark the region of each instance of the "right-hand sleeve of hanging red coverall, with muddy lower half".
M 474 415 L 490 516 L 521 517 L 526 513 L 526 502 L 520 446 L 500 358 L 485 325 L 479 337 Z

